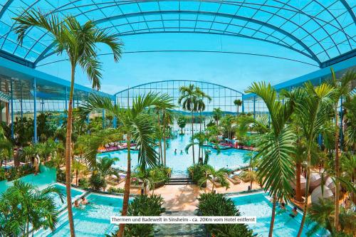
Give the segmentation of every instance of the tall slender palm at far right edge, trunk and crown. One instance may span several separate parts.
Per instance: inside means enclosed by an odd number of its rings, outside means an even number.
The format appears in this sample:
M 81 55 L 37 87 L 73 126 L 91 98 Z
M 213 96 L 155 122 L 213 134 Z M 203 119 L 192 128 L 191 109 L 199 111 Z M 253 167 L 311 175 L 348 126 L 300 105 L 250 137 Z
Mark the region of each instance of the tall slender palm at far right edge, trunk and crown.
M 348 70 L 345 75 L 337 80 L 335 72 L 333 68 L 330 68 L 332 79 L 330 81 L 330 85 L 334 87 L 334 117 L 335 117 L 335 221 L 334 228 L 337 229 L 339 226 L 339 201 L 340 201 L 340 186 L 338 178 L 340 177 L 340 155 L 339 155 L 339 133 L 340 128 L 338 125 L 338 117 L 339 113 L 337 112 L 337 106 L 341 98 L 349 95 L 351 90 L 352 80 L 356 79 L 356 73 L 353 70 Z M 342 107 L 342 105 L 341 105 Z

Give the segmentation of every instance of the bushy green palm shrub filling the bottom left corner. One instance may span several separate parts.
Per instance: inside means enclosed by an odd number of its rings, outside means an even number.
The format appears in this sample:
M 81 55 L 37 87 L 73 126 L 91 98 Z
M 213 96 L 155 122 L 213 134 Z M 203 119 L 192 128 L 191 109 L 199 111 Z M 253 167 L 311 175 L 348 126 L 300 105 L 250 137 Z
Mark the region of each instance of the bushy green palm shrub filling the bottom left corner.
M 0 236 L 29 236 L 30 226 L 33 231 L 54 230 L 59 213 L 53 194 L 63 198 L 54 186 L 38 191 L 32 184 L 14 181 L 14 186 L 0 196 Z

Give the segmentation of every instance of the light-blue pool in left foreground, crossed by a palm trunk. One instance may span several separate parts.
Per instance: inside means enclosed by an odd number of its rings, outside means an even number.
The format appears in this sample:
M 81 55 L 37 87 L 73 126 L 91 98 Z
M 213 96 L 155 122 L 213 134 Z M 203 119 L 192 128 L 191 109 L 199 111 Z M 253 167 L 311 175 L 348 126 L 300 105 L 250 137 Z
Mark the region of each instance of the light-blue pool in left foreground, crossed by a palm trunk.
M 110 216 L 120 215 L 122 198 L 100 194 L 89 194 L 86 198 L 90 204 L 83 209 L 73 208 L 75 236 L 97 237 L 110 233 L 116 227 L 110 224 Z M 59 217 L 55 231 L 41 229 L 35 236 L 70 236 L 67 212 Z

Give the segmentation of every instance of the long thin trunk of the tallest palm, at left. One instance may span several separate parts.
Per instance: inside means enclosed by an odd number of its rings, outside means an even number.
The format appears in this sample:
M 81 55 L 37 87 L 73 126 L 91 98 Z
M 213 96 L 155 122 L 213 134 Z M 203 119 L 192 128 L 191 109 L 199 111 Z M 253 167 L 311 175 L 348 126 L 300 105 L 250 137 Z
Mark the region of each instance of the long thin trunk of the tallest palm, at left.
M 67 119 L 67 134 L 66 134 L 66 192 L 67 192 L 67 209 L 68 209 L 68 221 L 70 228 L 70 236 L 75 237 L 73 211 L 72 211 L 72 197 L 70 194 L 70 163 L 71 161 L 71 145 L 72 145 L 72 113 L 73 113 L 73 91 L 74 91 L 74 75 L 75 66 L 72 65 L 71 80 L 70 80 L 70 93 L 69 93 L 69 105 L 68 105 L 68 119 Z

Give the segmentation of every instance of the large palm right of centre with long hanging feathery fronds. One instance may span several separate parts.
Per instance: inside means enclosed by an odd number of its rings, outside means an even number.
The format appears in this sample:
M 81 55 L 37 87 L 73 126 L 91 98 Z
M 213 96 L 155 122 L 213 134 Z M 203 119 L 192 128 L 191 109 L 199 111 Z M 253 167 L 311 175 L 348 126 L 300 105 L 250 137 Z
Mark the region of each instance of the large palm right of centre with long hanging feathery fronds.
M 272 218 L 268 236 L 273 235 L 276 216 L 276 201 L 288 201 L 293 193 L 290 179 L 293 177 L 293 142 L 295 136 L 286 123 L 293 112 L 292 103 L 277 100 L 276 90 L 266 83 L 253 83 L 246 93 L 255 93 L 265 102 L 271 116 L 271 128 L 258 140 L 258 154 L 261 159 L 258 167 L 258 179 L 265 191 L 273 197 Z

